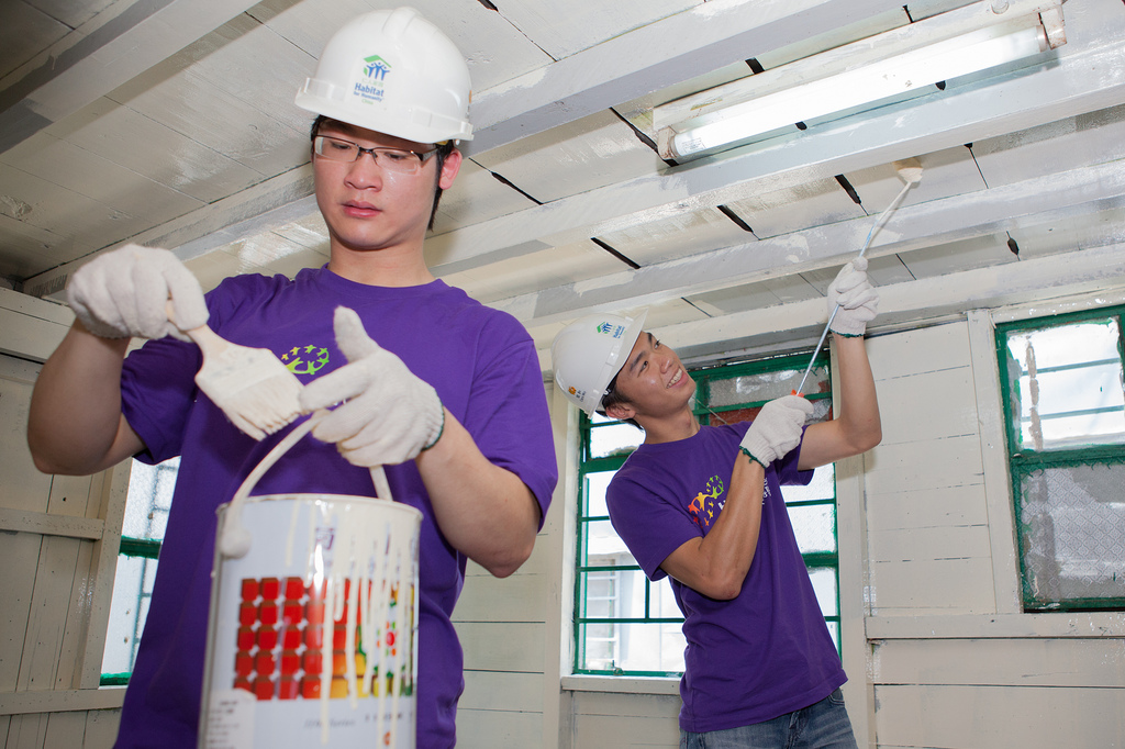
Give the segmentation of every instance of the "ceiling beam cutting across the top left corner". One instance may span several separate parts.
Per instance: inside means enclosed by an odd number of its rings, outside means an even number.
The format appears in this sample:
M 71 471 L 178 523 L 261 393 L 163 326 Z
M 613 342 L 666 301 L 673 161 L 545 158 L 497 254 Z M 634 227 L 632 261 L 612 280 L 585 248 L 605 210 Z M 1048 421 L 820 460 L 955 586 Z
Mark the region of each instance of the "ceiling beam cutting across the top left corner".
M 249 0 L 118 0 L 0 81 L 0 153 L 254 4 Z

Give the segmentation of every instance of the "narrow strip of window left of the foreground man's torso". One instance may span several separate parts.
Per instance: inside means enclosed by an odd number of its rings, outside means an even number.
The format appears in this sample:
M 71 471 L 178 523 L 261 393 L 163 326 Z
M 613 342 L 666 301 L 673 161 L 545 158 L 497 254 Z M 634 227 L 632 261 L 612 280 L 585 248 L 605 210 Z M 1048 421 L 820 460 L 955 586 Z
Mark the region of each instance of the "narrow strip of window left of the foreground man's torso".
M 156 466 L 133 461 L 101 658 L 102 686 L 126 684 L 133 673 L 179 469 L 179 458 Z

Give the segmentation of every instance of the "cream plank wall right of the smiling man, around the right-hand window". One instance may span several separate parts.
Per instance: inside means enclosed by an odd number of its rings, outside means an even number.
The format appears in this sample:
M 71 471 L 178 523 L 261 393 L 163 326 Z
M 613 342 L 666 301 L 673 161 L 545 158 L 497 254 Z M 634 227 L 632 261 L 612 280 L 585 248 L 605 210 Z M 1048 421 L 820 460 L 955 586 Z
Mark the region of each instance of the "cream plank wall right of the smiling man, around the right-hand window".
M 1019 612 L 991 331 L 974 314 L 868 341 L 868 746 L 1119 747 L 1122 616 Z

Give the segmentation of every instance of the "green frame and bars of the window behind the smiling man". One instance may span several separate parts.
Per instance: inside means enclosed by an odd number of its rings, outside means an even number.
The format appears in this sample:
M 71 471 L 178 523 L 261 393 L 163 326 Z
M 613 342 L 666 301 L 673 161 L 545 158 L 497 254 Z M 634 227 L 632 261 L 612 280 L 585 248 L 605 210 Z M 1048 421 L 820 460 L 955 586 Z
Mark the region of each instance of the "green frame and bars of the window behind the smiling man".
M 696 382 L 695 400 L 693 404 L 692 412 L 703 424 L 713 423 L 712 416 L 718 416 L 719 414 L 728 412 L 739 412 L 744 409 L 757 408 L 768 403 L 770 399 L 765 400 L 749 400 L 740 401 L 735 404 L 728 404 L 721 407 L 716 407 L 714 410 L 708 408 L 703 404 L 710 403 L 711 396 L 711 385 L 717 380 L 730 380 L 738 377 L 762 374 L 765 372 L 781 371 L 781 370 L 795 370 L 798 372 L 803 372 L 809 366 L 809 357 L 811 352 L 801 353 L 789 353 L 774 357 L 766 357 L 762 359 L 755 359 L 753 361 L 737 361 L 737 362 L 724 362 L 718 364 L 702 364 L 696 368 L 687 368 L 692 377 Z M 813 362 L 813 369 L 822 370 L 825 372 L 825 378 L 829 383 L 829 388 L 826 392 L 806 394 L 809 400 L 829 400 L 831 404 L 832 392 L 831 392 L 831 366 L 830 366 L 830 353 L 827 349 L 822 349 L 817 353 L 816 360 Z M 831 405 L 829 406 L 831 408 Z M 675 677 L 678 678 L 683 675 L 683 671 L 663 671 L 663 670 L 624 670 L 621 668 L 613 669 L 596 669 L 586 668 L 583 666 L 585 662 L 585 651 L 586 651 L 586 638 L 583 637 L 583 629 L 585 625 L 616 625 L 616 624 L 683 624 L 683 616 L 651 616 L 651 605 L 652 605 L 652 586 L 665 584 L 652 583 L 649 580 L 639 565 L 629 566 L 606 566 L 606 565 L 586 565 L 586 549 L 588 536 L 586 529 L 592 522 L 609 522 L 609 515 L 587 515 L 586 509 L 588 507 L 588 486 L 587 476 L 592 473 L 603 473 L 606 471 L 615 471 L 624 464 L 629 454 L 632 450 L 628 452 L 619 452 L 611 455 L 605 455 L 601 458 L 594 458 L 591 455 L 591 446 L 593 443 L 592 435 L 598 428 L 606 428 L 611 426 L 620 426 L 623 422 L 618 422 L 614 419 L 603 421 L 595 423 L 585 412 L 578 412 L 578 460 L 577 460 L 577 523 L 576 523 L 576 543 L 575 543 L 575 576 L 574 576 L 574 608 L 572 617 L 572 631 L 574 648 L 573 648 L 573 659 L 572 659 L 572 674 L 582 676 L 609 676 L 615 678 L 646 678 L 646 677 Z M 638 430 L 639 434 L 642 434 Z M 814 569 L 829 568 L 834 570 L 836 579 L 836 590 L 835 590 L 835 614 L 825 615 L 825 622 L 829 625 L 835 625 L 836 628 L 836 646 L 837 652 L 842 655 L 843 650 L 843 615 L 840 610 L 840 562 L 839 562 L 839 499 L 838 489 L 836 488 L 836 480 L 834 475 L 832 481 L 832 498 L 831 499 L 803 499 L 786 502 L 786 507 L 802 507 L 802 506 L 818 506 L 830 504 L 832 506 L 832 538 L 835 540 L 836 550 L 832 552 L 817 551 L 802 553 L 804 559 L 806 568 L 811 572 Z M 584 602 L 586 595 L 586 572 L 600 572 L 600 571 L 639 571 L 641 577 L 645 579 L 645 616 L 642 617 L 597 617 L 597 616 L 583 616 L 585 611 Z

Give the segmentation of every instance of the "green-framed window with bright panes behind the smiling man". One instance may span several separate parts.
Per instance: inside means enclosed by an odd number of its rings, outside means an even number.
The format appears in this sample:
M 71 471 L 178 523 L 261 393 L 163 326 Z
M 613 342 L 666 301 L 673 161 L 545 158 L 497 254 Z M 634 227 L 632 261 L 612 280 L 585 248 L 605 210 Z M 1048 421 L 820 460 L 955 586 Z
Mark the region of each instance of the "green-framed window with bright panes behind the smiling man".
M 752 419 L 766 401 L 795 389 L 808 363 L 806 354 L 693 370 L 695 414 L 704 424 Z M 804 391 L 814 405 L 810 421 L 830 419 L 827 353 L 818 357 Z M 587 418 L 582 414 L 579 424 L 574 673 L 680 676 L 686 644 L 681 631 L 684 620 L 668 578 L 648 580 L 613 531 L 605 507 L 610 479 L 644 440 L 644 432 L 597 415 Z M 783 495 L 838 651 L 839 557 L 832 466 L 818 468 L 807 487 L 784 487 Z

